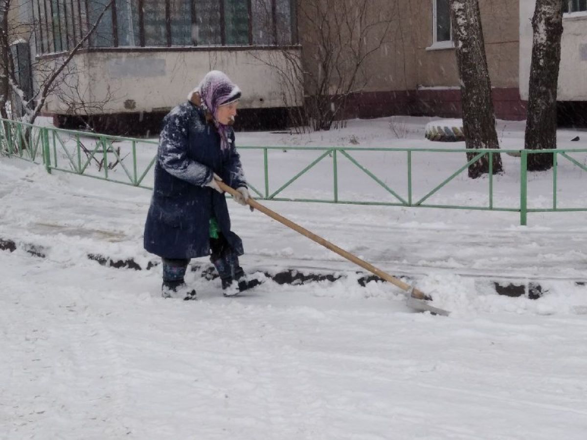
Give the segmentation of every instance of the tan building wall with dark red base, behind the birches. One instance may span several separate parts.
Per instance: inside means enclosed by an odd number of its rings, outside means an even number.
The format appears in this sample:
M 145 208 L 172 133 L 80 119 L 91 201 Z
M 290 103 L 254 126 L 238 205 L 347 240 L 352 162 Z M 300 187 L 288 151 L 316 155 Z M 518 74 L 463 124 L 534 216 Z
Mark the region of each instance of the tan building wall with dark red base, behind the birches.
M 481 0 L 480 7 L 496 114 L 501 119 L 524 119 L 518 90 L 518 0 Z M 393 19 L 386 42 L 365 63 L 369 82 L 355 94 L 348 116 L 460 116 L 454 48 L 431 47 L 433 0 L 373 0 L 370 9 L 377 18 L 390 13 Z M 311 26 L 305 25 L 303 15 L 298 22 L 306 66 L 317 69 Z

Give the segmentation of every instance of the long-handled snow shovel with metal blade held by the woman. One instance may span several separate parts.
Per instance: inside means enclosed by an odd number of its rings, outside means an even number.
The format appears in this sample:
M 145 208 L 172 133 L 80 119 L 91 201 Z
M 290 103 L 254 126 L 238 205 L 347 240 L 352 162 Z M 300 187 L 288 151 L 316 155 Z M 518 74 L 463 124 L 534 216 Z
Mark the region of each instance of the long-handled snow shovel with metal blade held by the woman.
M 239 195 L 236 189 L 229 187 L 224 182 L 217 181 L 217 184 L 222 189 L 222 191 L 228 192 L 228 194 L 232 195 L 232 197 L 234 197 L 235 195 Z M 258 211 L 261 211 L 263 214 L 268 215 L 269 217 L 278 221 L 279 223 L 288 226 L 288 228 L 294 229 L 294 231 L 299 232 L 302 235 L 305 235 L 306 237 L 308 237 L 312 241 L 315 241 L 319 245 L 322 245 L 325 248 L 330 249 L 330 251 L 338 253 L 338 255 L 348 259 L 350 262 L 353 262 L 356 265 L 361 266 L 363 269 L 369 270 L 369 272 L 373 273 L 374 275 L 379 276 L 387 282 L 390 282 L 393 285 L 396 285 L 400 289 L 404 290 L 405 292 L 407 292 L 406 304 L 411 309 L 420 310 L 421 312 L 439 314 L 442 316 L 448 316 L 449 312 L 447 312 L 447 310 L 439 309 L 438 307 L 432 306 L 429 303 L 432 300 L 432 298 L 429 295 L 426 295 L 421 290 L 416 289 L 416 287 L 412 287 L 409 284 L 404 283 L 402 280 L 399 280 L 396 277 L 389 275 L 389 273 L 383 272 L 383 270 L 381 269 L 377 269 L 375 266 L 373 266 L 370 263 L 367 263 L 365 260 L 360 259 L 356 255 L 353 255 L 352 253 L 347 252 L 336 245 L 333 245 L 329 241 L 323 239 L 321 236 L 308 231 L 308 229 L 302 228 L 302 226 L 292 222 L 289 219 L 286 219 L 284 216 L 277 214 L 275 211 L 271 211 L 271 209 L 264 207 L 252 197 L 248 198 L 247 204 L 250 207 L 257 209 Z

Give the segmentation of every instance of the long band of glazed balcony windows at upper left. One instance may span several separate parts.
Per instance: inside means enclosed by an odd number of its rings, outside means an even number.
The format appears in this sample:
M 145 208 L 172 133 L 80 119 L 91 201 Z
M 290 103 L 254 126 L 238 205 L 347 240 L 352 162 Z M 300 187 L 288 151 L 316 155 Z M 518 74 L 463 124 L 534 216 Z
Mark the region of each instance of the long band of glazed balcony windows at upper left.
M 85 47 L 290 45 L 295 1 L 114 0 Z M 33 0 L 37 53 L 73 49 L 109 3 Z

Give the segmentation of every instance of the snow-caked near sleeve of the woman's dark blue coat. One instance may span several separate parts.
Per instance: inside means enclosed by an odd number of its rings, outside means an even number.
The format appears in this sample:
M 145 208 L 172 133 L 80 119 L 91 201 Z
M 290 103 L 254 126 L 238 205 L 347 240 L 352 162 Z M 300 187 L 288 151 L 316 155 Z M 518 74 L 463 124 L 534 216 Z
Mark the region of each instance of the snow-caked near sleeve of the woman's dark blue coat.
M 159 136 L 157 160 L 174 177 L 203 186 L 212 179 L 212 170 L 188 157 L 190 112 L 181 109 L 170 113 Z

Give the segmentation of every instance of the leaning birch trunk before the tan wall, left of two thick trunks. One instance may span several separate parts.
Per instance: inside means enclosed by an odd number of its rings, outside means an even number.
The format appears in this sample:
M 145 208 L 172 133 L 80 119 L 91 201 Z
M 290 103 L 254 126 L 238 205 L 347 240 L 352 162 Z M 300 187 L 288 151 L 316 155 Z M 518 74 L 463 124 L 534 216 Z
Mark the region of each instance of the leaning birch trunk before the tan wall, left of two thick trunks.
M 465 145 L 467 148 L 499 149 L 479 1 L 451 0 L 450 6 L 458 75 L 461 79 Z M 467 154 L 467 160 L 473 157 L 473 154 Z M 495 153 L 492 157 L 493 173 L 503 171 L 501 155 Z M 471 164 L 468 169 L 469 177 L 474 179 L 488 172 L 488 155 Z

